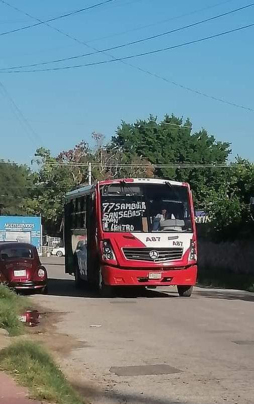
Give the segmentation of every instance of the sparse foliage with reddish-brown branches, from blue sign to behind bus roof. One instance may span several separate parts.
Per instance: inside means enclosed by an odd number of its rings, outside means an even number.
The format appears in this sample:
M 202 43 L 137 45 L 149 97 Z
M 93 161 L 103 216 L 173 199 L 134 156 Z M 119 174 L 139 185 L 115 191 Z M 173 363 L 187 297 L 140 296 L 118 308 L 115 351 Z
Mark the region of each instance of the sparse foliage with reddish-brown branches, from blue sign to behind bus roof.
M 26 207 L 28 214 L 41 212 L 47 232 L 59 231 L 65 194 L 88 183 L 89 163 L 93 164 L 94 180 L 152 175 L 151 165 L 146 160 L 141 160 L 136 155 L 130 160 L 119 150 L 104 146 L 100 133 L 93 133 L 92 136 L 96 143 L 94 148 L 81 141 L 72 149 L 61 151 L 56 157 L 43 147 L 36 150 L 33 163 L 37 165 L 38 171 L 34 174 L 34 189 L 30 192 Z M 130 167 L 120 167 L 122 162 L 130 163 Z M 137 168 L 136 164 L 145 167 Z

